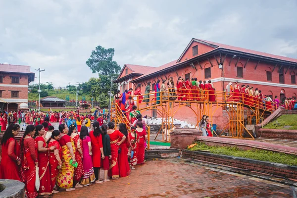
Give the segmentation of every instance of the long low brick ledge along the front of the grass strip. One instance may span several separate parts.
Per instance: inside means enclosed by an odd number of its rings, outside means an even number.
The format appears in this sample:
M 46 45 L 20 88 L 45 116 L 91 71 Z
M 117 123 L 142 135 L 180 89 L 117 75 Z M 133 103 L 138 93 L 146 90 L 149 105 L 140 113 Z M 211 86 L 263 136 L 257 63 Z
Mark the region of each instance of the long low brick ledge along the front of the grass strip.
M 183 150 L 183 157 L 227 167 L 248 169 L 255 172 L 261 172 L 262 174 L 273 174 L 279 177 L 286 177 L 294 180 L 297 179 L 297 166 L 191 150 Z

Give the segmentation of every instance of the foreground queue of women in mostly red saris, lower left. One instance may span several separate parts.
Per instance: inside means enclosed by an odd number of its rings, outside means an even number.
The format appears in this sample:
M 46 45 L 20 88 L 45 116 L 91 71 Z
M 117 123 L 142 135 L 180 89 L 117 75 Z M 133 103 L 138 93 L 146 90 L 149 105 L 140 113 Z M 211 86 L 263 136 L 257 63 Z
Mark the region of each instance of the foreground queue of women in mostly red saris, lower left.
M 46 126 L 29 124 L 19 143 L 20 126 L 10 123 L 1 140 L 0 178 L 25 183 L 27 197 L 36 198 L 126 177 L 144 163 L 147 133 L 142 121 L 131 132 L 124 123 L 117 130 L 112 122 L 100 126 L 98 121 L 93 130 L 83 125 L 79 132 L 72 117 L 58 130 L 48 121 Z

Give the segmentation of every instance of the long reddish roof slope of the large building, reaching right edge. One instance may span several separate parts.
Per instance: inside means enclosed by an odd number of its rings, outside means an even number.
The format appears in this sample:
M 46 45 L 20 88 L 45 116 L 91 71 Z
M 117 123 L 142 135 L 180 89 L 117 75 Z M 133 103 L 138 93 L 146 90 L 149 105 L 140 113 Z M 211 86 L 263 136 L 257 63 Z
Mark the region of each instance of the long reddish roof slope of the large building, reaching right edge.
M 255 54 L 255 55 L 260 55 L 260 56 L 265 56 L 265 57 L 270 57 L 270 58 L 276 58 L 276 59 L 280 59 L 280 60 L 284 60 L 284 61 L 290 61 L 290 62 L 296 62 L 297 63 L 297 59 L 295 59 L 295 58 L 289 58 L 289 57 L 286 57 L 286 56 L 274 55 L 274 54 L 271 54 L 271 53 L 265 53 L 265 52 L 251 50 L 251 49 L 244 49 L 244 48 L 239 48 L 239 47 L 234 47 L 234 46 L 228 46 L 228 45 L 225 45 L 225 44 L 215 43 L 215 42 L 211 42 L 211 41 L 205 41 L 205 40 L 201 40 L 201 39 L 194 39 L 194 40 L 203 41 L 205 43 L 209 43 L 209 44 L 218 46 L 218 48 L 230 49 L 230 50 L 235 50 L 235 51 L 242 51 L 242 52 L 245 52 L 245 53 L 251 53 L 251 54 Z

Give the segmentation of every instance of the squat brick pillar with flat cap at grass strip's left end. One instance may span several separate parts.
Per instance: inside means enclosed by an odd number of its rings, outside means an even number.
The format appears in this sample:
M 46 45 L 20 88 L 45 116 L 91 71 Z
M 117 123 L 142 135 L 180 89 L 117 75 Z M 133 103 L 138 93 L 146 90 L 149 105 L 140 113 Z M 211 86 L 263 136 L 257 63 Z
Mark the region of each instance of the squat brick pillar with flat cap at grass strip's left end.
M 170 148 L 185 149 L 193 144 L 197 136 L 201 136 L 202 132 L 198 129 L 174 129 L 170 133 Z

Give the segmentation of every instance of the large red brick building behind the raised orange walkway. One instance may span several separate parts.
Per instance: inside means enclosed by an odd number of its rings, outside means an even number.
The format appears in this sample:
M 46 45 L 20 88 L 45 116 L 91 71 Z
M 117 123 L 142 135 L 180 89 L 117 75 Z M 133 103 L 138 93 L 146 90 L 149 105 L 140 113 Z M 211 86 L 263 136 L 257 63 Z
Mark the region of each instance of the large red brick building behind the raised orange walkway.
M 169 77 L 173 77 L 174 82 L 179 76 L 184 79 L 196 77 L 202 81 L 211 80 L 216 91 L 223 91 L 229 82 L 239 81 L 240 85 L 250 85 L 261 90 L 264 95 L 273 98 L 278 96 L 282 100 L 285 97 L 297 97 L 296 67 L 297 59 L 294 58 L 192 39 L 177 60 L 149 69 L 127 83 L 129 87 L 141 83 L 144 93 L 148 81 L 152 83 L 153 90 L 157 80 Z M 119 84 L 125 78 L 125 69 L 124 66 L 116 80 Z M 212 117 L 213 123 L 219 126 L 224 122 L 222 115 L 222 110 L 216 110 Z M 186 109 L 176 114 L 176 118 L 189 122 L 197 119 Z

